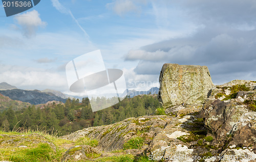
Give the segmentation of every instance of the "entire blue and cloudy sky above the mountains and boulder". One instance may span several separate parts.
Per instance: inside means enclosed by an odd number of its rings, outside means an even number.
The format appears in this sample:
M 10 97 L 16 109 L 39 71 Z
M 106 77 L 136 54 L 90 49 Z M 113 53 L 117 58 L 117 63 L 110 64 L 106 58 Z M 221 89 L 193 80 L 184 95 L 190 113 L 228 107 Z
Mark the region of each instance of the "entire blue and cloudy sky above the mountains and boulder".
M 164 63 L 206 65 L 214 84 L 256 80 L 254 0 L 42 0 L 6 17 L 0 82 L 68 92 L 66 64 L 101 50 L 129 89 L 159 86 Z

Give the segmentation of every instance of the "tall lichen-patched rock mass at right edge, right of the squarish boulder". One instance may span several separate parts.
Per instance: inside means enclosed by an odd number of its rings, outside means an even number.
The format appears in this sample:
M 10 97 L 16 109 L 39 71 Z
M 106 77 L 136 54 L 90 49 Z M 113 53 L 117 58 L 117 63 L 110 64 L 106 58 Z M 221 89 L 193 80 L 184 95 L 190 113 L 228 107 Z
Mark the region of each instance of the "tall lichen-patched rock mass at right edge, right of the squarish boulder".
M 211 90 L 202 114 L 208 135 L 219 148 L 216 154 L 256 158 L 255 86 L 253 81 L 233 80 Z

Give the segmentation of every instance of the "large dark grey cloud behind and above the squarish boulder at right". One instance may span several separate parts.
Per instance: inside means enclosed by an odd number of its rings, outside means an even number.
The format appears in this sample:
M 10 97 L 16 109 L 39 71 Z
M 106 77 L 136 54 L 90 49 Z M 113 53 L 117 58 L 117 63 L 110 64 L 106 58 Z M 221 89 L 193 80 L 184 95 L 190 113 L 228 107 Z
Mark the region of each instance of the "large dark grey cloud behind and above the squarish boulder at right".
M 143 55 L 128 53 L 126 60 L 140 60 L 134 69 L 137 74 L 156 75 L 164 63 L 177 63 L 206 65 L 213 80 L 219 75 L 222 75 L 223 80 L 226 77 L 229 77 L 228 80 L 237 79 L 237 75 L 230 74 L 242 73 L 243 76 L 248 76 L 249 73 L 256 72 L 255 34 L 256 30 L 230 29 L 223 33 L 221 30 L 204 29 L 193 37 L 144 46 L 139 50 Z M 253 78 L 256 79 L 256 76 Z

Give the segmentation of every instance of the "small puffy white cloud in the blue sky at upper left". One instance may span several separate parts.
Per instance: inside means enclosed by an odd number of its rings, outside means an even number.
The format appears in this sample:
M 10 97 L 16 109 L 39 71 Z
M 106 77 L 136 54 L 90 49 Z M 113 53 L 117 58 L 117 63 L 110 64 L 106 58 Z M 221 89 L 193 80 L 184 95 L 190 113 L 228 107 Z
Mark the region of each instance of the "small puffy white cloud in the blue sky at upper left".
M 24 14 L 18 14 L 14 19 L 22 27 L 21 30 L 27 38 L 34 36 L 39 26 L 45 27 L 47 25 L 46 22 L 41 20 L 39 13 L 36 10 L 29 11 Z

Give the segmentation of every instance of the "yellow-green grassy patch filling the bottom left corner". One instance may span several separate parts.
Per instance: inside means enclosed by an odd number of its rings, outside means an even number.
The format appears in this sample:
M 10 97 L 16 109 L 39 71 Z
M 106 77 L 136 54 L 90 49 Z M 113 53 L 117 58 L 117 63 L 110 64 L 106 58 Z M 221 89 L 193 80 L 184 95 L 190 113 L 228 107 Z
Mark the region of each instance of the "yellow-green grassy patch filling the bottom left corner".
M 65 149 L 58 147 L 62 144 L 71 144 L 69 140 L 58 139 L 54 134 L 48 134 L 46 131 L 32 131 L 30 129 L 22 132 L 17 131 L 0 131 L 0 134 L 7 136 L 0 136 L 0 141 L 12 140 L 13 144 L 3 144 L 0 142 L 0 161 L 60 161 Z M 23 142 L 20 142 L 23 140 Z M 49 141 L 56 146 L 54 150 L 51 145 L 42 142 Z M 27 146 L 26 148 L 19 148 L 15 146 Z

